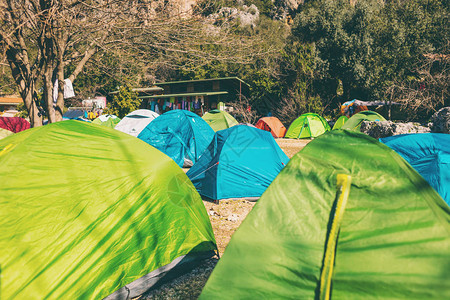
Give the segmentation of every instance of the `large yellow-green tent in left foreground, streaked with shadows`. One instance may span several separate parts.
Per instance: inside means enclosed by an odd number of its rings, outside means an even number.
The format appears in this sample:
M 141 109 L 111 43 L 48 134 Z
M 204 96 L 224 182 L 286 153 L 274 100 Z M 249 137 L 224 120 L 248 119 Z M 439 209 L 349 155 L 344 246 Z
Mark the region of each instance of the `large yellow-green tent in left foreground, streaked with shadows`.
M 2 299 L 132 298 L 216 249 L 186 175 L 130 135 L 57 122 L 0 140 L 0 165 Z

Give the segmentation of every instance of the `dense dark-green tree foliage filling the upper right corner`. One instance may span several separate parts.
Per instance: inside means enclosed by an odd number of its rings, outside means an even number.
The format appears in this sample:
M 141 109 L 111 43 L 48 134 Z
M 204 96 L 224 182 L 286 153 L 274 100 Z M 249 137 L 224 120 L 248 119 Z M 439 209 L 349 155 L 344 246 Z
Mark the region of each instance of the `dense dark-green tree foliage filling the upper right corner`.
M 335 106 L 354 98 L 395 101 L 390 87 L 402 82 L 405 90 L 424 80 L 418 66 L 426 64 L 425 55 L 443 54 L 448 13 L 440 0 L 308 1 L 293 35 L 316 47 L 314 91 L 322 98 L 334 99 Z

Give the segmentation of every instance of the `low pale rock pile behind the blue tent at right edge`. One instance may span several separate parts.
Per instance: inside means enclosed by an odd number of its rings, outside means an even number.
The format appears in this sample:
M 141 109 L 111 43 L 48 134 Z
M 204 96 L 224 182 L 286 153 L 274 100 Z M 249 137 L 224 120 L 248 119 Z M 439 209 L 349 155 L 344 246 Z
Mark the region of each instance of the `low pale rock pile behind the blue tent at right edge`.
M 394 123 L 392 121 L 368 122 L 361 123 L 361 132 L 379 139 L 387 136 L 407 134 L 407 133 L 426 133 L 431 129 L 421 126 L 419 123 Z

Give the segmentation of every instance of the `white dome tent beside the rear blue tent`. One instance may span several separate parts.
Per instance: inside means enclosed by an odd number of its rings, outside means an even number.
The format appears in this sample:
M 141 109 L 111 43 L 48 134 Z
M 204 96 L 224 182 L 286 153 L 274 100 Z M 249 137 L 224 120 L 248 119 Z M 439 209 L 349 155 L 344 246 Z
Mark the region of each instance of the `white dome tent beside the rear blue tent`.
M 126 115 L 114 129 L 132 136 L 138 136 L 159 114 L 149 109 L 138 109 Z

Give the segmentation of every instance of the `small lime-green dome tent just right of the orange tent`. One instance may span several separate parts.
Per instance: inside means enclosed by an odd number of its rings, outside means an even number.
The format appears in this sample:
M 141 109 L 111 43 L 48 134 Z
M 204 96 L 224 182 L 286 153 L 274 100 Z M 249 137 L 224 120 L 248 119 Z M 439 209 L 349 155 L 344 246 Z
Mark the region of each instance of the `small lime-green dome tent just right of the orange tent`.
M 318 114 L 306 113 L 292 122 L 285 137 L 291 139 L 315 138 L 330 129 L 327 120 Z

